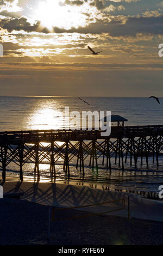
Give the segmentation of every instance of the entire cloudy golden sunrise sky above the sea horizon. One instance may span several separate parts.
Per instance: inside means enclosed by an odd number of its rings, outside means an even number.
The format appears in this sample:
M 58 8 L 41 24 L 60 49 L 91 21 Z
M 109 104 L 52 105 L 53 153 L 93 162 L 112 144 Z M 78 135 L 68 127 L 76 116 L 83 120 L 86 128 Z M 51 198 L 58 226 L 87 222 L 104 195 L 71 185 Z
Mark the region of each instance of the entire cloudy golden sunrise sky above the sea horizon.
M 163 96 L 161 0 L 0 0 L 0 43 L 0 95 Z

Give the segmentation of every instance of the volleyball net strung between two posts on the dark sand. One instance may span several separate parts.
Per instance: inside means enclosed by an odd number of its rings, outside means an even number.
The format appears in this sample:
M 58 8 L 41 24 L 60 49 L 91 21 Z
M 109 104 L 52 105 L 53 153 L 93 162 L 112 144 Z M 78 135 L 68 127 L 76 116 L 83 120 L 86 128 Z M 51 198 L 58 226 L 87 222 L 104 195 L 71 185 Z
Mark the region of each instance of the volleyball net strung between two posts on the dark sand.
M 122 202 L 122 207 L 121 208 L 114 209 L 114 210 L 109 210 L 109 211 L 98 212 L 98 213 L 90 212 L 90 214 L 86 214 L 86 215 L 82 215 L 82 216 L 74 216 L 74 217 L 66 217 L 66 218 L 56 218 L 55 217 L 55 214 L 59 211 L 80 210 L 80 209 L 82 210 L 84 208 L 89 208 L 89 207 L 92 207 L 92 206 L 102 206 L 102 205 L 112 204 L 112 203 L 117 203 L 117 202 Z M 125 210 L 126 209 L 126 202 L 127 202 L 127 218 L 130 221 L 130 196 L 129 195 L 127 195 L 127 199 L 121 198 L 121 199 L 117 199 L 117 200 L 113 200 L 113 201 L 109 201 L 109 202 L 104 202 L 104 203 L 98 203 L 98 204 L 72 206 L 72 207 L 69 207 L 69 208 L 57 208 L 57 209 L 53 209 L 52 206 L 49 207 L 49 209 L 48 209 L 48 243 L 49 243 L 49 240 L 51 239 L 51 224 L 52 224 L 52 222 L 75 220 L 75 219 L 79 219 L 79 218 L 86 218 L 86 217 L 98 216 L 98 215 L 103 215 L 103 214 L 106 215 L 106 214 L 109 214 L 111 212 Z

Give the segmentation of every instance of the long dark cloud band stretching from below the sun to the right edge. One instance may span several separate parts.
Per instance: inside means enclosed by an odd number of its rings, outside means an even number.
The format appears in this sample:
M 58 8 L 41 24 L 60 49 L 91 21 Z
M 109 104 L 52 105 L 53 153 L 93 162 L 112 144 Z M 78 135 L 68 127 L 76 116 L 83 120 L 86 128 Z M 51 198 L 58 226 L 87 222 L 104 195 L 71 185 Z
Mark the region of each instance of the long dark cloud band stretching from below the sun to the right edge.
M 61 29 L 54 27 L 55 33 L 91 33 L 91 34 L 102 34 L 109 33 L 111 36 L 125 36 L 133 35 L 137 33 L 145 34 L 163 34 L 163 16 L 160 17 L 129 17 L 126 23 L 115 17 L 111 22 L 97 21 L 91 23 L 86 27 Z

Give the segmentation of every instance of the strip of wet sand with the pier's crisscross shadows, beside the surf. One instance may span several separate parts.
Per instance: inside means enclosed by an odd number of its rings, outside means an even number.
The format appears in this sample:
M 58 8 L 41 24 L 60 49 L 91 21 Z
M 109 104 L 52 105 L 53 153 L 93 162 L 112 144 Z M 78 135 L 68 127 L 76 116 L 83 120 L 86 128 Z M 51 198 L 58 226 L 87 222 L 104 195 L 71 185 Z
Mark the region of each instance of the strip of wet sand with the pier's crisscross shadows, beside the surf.
M 77 206 L 102 204 L 89 206 L 82 210 L 98 214 L 114 210 L 111 214 L 106 213 L 106 215 L 121 217 L 128 217 L 129 197 L 131 218 L 163 222 L 162 201 L 147 199 L 138 194 L 100 190 L 89 186 L 71 185 L 60 182 L 21 182 L 13 179 L 5 182 L 3 189 L 5 194 L 23 192 L 24 195 L 21 197 L 21 200 L 57 208 L 77 208 Z M 120 199 L 125 200 L 125 209 L 123 211 L 115 211 L 118 208 L 122 208 L 122 202 L 103 204 Z

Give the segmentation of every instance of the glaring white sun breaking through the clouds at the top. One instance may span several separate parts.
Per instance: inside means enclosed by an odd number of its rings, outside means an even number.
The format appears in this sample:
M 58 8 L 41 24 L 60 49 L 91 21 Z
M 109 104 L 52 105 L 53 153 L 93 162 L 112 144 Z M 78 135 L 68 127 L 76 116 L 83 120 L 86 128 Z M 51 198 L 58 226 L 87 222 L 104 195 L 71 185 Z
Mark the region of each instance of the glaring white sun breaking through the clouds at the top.
M 34 19 L 49 31 L 53 31 L 53 27 L 70 29 L 86 23 L 83 7 L 67 5 L 64 0 L 41 1 L 34 10 Z

